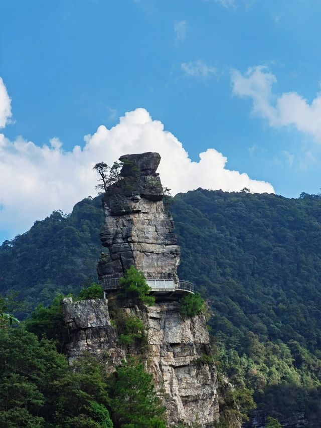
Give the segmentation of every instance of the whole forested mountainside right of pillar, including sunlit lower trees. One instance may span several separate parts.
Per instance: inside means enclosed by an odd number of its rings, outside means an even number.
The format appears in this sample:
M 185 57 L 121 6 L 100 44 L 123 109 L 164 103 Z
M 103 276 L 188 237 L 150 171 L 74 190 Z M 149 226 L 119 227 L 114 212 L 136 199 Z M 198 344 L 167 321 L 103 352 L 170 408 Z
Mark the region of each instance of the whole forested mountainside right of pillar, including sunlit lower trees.
M 321 401 L 320 212 L 319 197 L 201 189 L 172 207 L 179 275 L 213 311 L 219 370 L 267 414 L 305 408 L 311 428 Z

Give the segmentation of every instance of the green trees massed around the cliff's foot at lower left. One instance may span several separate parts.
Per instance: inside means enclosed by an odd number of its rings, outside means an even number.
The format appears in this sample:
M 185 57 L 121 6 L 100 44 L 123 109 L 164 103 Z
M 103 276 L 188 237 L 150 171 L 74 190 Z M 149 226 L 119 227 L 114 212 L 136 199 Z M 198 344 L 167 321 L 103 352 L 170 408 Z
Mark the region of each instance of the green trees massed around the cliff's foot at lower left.
M 68 365 L 66 355 L 57 352 L 65 344 L 57 334 L 61 321 L 55 299 L 18 328 L 0 329 L 0 426 L 165 428 L 165 408 L 141 362 L 123 361 L 112 375 L 103 354 L 99 359 L 84 354 Z M 143 330 L 136 317 L 128 317 L 129 327 Z

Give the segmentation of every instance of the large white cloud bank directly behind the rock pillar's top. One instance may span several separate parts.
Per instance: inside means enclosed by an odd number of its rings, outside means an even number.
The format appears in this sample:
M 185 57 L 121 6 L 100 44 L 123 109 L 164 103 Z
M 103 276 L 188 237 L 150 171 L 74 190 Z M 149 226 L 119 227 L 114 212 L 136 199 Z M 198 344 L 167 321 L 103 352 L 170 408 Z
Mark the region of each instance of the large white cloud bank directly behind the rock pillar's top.
M 13 236 L 27 230 L 36 219 L 55 209 L 69 212 L 82 198 L 94 194 L 97 184 L 92 167 L 100 161 L 111 164 L 128 153 L 158 152 L 162 161 L 158 172 L 173 194 L 202 188 L 254 192 L 274 192 L 269 183 L 251 180 L 247 174 L 226 169 L 227 159 L 215 149 L 200 154 L 192 162 L 182 143 L 152 120 L 143 108 L 120 117 L 107 129 L 101 125 L 85 136 L 85 146 L 63 150 L 58 138 L 50 146 L 36 146 L 18 138 L 10 141 L 0 134 L 0 224 Z

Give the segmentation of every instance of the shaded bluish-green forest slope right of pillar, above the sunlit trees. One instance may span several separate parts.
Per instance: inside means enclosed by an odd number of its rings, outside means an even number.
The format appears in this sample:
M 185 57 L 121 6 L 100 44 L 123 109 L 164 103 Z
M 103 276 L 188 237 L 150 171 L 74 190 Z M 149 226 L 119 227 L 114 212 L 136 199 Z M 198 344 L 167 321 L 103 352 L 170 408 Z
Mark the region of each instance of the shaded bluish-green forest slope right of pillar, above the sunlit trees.
M 190 279 L 233 326 L 321 346 L 321 199 L 197 190 L 173 205 Z

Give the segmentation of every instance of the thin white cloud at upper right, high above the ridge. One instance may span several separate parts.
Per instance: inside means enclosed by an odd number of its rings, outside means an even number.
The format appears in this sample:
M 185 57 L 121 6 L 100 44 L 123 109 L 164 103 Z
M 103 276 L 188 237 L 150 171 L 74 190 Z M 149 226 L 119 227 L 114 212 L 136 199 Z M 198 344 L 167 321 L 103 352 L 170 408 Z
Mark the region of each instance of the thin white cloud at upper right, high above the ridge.
M 272 86 L 274 74 L 265 66 L 250 67 L 242 74 L 231 72 L 233 94 L 252 99 L 252 113 L 268 120 L 270 126 L 294 126 L 298 131 L 321 142 L 321 93 L 308 103 L 297 92 L 276 95 Z

